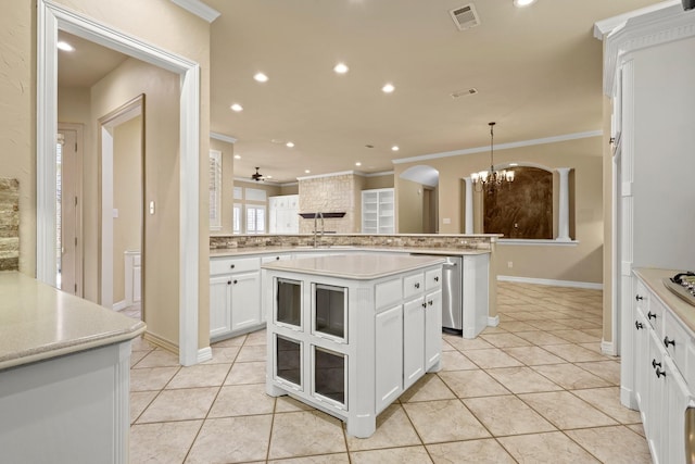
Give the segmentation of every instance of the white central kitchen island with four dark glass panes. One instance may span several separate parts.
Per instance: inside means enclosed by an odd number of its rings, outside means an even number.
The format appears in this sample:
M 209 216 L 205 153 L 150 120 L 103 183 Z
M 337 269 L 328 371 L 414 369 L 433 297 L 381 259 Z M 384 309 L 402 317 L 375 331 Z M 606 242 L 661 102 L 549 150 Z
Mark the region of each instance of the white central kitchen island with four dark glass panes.
M 371 436 L 381 411 L 440 369 L 443 261 L 345 254 L 263 264 L 266 392 Z

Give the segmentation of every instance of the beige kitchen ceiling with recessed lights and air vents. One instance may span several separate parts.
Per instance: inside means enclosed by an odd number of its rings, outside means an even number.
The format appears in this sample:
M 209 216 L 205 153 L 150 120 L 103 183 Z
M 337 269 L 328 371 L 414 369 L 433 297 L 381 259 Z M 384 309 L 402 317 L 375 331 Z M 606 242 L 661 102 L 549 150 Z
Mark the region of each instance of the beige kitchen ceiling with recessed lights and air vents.
M 236 176 L 260 166 L 293 181 L 486 147 L 492 121 L 495 143 L 601 130 L 603 45 L 593 24 L 659 2 L 538 0 L 517 9 L 477 0 L 480 25 L 463 32 L 448 12 L 467 0 L 205 3 L 222 13 L 211 26 L 211 130 L 237 139 Z M 350 71 L 334 73 L 338 62 Z M 268 81 L 255 81 L 256 72 Z M 387 83 L 392 93 L 381 91 Z M 470 88 L 478 92 L 451 96 Z

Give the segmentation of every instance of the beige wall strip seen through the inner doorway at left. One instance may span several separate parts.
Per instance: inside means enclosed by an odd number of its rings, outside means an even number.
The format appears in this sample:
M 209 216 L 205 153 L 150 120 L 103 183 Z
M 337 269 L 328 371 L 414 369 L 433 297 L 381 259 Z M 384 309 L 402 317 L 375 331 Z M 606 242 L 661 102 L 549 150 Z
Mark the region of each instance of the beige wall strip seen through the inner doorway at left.
M 142 224 L 142 117 L 113 129 L 113 302 L 126 298 L 125 252 L 140 251 Z

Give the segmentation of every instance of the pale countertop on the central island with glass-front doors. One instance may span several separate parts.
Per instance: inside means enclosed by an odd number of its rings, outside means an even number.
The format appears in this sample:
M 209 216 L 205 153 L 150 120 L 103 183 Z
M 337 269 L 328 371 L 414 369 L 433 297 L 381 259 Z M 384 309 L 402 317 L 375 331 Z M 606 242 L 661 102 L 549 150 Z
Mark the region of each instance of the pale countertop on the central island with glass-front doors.
M 442 264 L 443 258 L 410 255 L 343 254 L 333 256 L 300 258 L 273 261 L 261 267 L 273 271 L 291 271 L 301 274 L 340 277 L 351 280 L 371 280 L 380 277 L 416 271 Z

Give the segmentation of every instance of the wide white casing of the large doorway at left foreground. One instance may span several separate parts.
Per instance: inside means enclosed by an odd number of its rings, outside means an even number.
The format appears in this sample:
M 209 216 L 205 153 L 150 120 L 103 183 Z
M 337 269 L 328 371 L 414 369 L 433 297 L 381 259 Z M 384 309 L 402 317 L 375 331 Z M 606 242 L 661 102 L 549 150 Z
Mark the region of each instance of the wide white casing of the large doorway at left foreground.
M 55 134 L 58 130 L 58 30 L 102 45 L 179 74 L 179 362 L 203 361 L 198 349 L 200 247 L 200 65 L 50 0 L 37 0 L 36 276 L 55 286 Z M 147 285 L 147 281 L 146 281 Z

